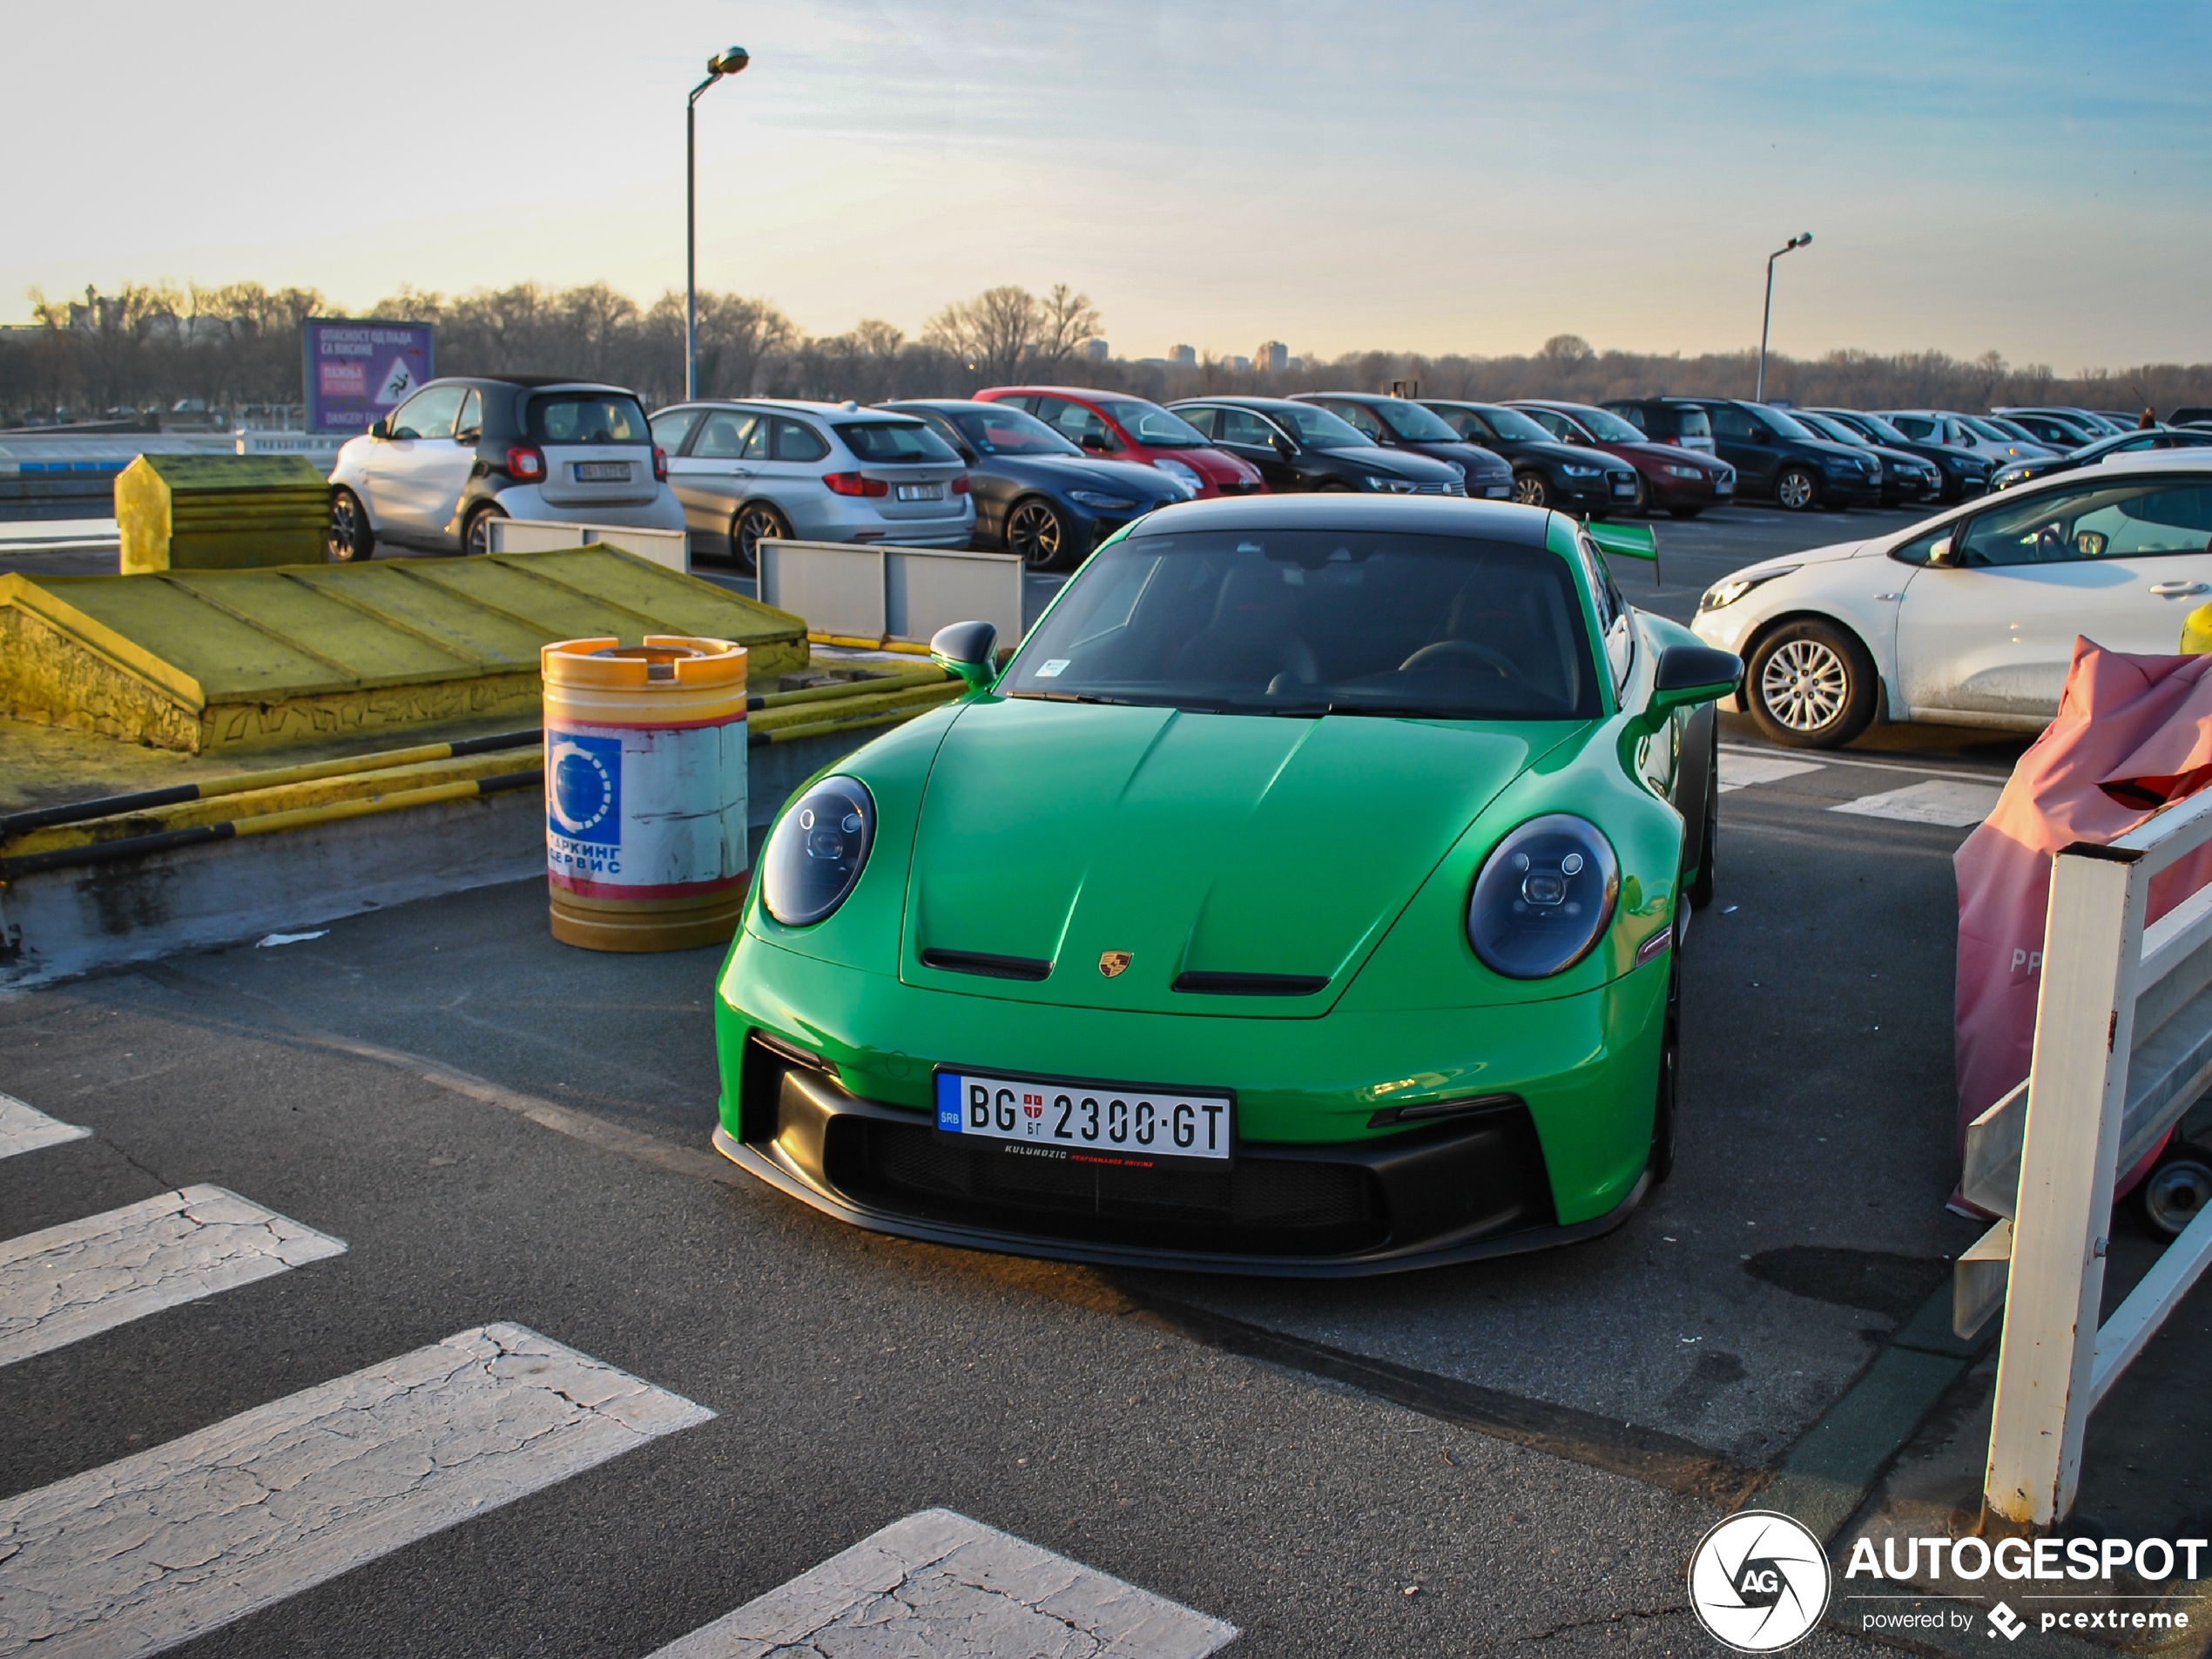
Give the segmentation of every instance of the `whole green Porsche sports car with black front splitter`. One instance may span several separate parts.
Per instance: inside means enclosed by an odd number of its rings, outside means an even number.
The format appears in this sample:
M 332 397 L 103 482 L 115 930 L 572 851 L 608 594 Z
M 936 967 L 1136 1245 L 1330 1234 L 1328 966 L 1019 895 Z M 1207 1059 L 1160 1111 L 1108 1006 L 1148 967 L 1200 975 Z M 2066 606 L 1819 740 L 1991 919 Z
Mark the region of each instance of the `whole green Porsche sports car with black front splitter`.
M 1652 553 L 1504 502 L 1190 502 L 1002 670 L 989 624 L 940 633 L 971 692 L 768 841 L 714 1146 L 860 1228 L 1102 1263 L 1617 1225 L 1672 1159 L 1741 664 L 1601 546 Z

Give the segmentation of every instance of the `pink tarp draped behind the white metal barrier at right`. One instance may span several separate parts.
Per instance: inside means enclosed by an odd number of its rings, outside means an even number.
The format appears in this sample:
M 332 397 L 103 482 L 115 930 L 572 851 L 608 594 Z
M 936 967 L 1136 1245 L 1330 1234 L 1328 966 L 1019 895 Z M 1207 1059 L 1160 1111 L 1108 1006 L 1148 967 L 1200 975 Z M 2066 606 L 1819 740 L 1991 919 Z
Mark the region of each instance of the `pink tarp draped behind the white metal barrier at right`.
M 2077 841 L 2117 841 L 2208 781 L 2212 657 L 2130 657 L 2075 639 L 2057 719 L 2020 757 L 1997 810 L 1951 860 L 1962 1148 L 1966 1124 L 2028 1075 L 2051 856 Z M 2212 845 L 2152 878 L 2146 922 L 2205 880 Z

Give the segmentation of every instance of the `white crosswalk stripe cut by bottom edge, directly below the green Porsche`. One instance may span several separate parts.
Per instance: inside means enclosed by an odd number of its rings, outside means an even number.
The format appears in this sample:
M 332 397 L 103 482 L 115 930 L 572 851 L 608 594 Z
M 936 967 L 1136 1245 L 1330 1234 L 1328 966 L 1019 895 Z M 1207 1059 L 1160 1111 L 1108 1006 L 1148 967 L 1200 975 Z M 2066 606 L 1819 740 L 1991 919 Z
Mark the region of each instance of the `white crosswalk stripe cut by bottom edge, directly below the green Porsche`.
M 843 1641 L 821 1641 L 823 1632 Z M 1237 1626 L 949 1509 L 872 1533 L 650 1659 L 772 1652 L 1113 1652 L 1203 1659 Z

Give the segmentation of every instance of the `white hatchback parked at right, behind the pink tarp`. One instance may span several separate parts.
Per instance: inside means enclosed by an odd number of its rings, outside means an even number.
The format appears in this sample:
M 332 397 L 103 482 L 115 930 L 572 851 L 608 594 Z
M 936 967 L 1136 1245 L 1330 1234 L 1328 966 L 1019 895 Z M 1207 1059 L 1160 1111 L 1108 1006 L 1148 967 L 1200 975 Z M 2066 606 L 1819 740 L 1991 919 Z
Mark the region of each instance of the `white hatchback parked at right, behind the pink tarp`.
M 2174 653 L 2208 597 L 2212 451 L 2168 449 L 1747 564 L 1692 626 L 1745 661 L 1723 708 L 1778 743 L 1836 748 L 1878 717 L 2037 732 L 2077 635 Z

